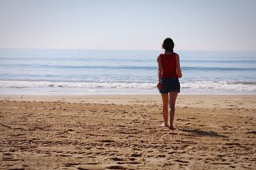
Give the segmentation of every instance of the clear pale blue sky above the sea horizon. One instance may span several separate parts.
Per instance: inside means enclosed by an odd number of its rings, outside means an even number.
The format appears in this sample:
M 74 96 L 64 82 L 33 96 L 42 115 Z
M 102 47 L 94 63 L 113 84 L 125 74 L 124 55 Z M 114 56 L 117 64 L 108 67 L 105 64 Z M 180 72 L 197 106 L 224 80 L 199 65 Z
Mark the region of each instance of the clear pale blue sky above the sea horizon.
M 0 0 L 0 48 L 256 51 L 254 0 Z

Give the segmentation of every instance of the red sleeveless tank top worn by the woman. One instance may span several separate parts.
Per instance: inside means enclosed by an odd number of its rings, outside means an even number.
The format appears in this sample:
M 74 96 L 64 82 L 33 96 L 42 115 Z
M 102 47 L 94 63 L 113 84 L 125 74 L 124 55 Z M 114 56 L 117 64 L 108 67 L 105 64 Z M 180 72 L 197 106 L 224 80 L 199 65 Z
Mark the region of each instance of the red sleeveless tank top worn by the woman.
M 175 53 L 168 55 L 161 53 L 160 58 L 162 63 L 161 78 L 178 78 Z

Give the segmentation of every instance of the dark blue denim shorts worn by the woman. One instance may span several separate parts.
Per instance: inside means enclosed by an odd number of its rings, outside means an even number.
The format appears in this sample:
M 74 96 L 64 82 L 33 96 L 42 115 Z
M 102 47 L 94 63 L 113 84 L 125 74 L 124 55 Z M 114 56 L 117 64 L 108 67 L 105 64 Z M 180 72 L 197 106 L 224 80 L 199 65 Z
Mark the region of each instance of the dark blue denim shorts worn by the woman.
M 159 90 L 161 94 L 180 92 L 179 78 L 162 78 L 160 83 L 162 84 L 162 89 Z

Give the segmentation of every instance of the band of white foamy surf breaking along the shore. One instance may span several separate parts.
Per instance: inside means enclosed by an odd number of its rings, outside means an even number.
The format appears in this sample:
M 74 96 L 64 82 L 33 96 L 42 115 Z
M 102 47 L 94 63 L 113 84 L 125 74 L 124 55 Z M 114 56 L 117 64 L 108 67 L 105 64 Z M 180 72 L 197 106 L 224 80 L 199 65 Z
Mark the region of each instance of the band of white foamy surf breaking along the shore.
M 256 94 L 255 82 L 244 81 L 180 81 L 182 94 Z M 0 93 L 23 94 L 26 92 L 42 94 L 61 92 L 77 94 L 154 94 L 156 83 L 125 83 L 125 82 L 51 82 L 51 81 L 0 81 Z

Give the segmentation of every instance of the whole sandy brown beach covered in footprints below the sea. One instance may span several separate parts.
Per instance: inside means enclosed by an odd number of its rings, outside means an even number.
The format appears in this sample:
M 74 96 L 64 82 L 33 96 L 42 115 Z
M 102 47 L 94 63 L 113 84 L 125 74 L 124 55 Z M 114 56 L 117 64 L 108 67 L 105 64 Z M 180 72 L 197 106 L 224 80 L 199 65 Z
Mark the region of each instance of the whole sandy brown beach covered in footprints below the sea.
M 1 169 L 256 169 L 256 96 L 1 96 Z

